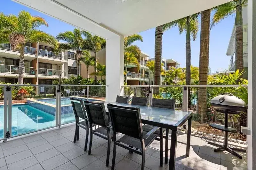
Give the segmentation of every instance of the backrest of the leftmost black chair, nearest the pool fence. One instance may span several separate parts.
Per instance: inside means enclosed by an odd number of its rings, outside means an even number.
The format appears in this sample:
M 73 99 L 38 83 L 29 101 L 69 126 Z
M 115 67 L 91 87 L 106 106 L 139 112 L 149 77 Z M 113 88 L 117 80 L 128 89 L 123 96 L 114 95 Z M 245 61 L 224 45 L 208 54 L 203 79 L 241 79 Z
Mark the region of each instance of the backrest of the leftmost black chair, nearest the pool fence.
M 83 100 L 79 100 L 71 97 L 70 101 L 71 101 L 71 105 L 73 107 L 75 116 L 82 119 L 87 119 Z

